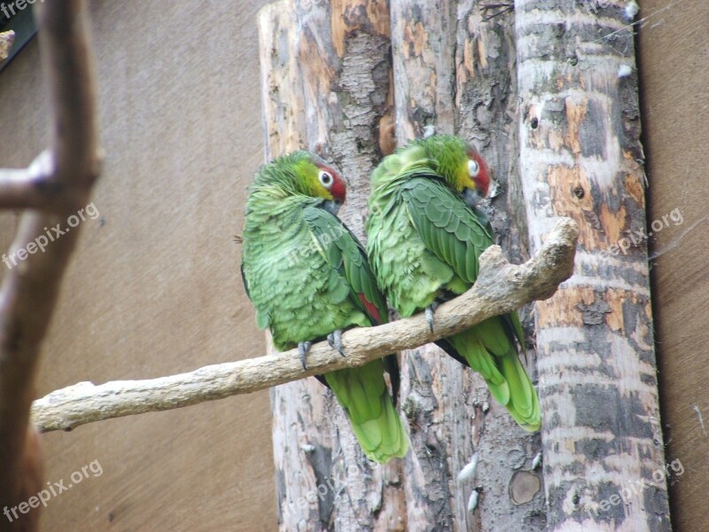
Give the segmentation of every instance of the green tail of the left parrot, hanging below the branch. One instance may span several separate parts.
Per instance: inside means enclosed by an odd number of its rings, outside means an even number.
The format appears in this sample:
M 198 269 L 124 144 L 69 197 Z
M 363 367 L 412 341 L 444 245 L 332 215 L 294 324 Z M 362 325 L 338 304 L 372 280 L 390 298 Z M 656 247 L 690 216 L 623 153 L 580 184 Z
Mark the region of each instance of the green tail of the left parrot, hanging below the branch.
M 384 364 L 375 360 L 359 368 L 323 375 L 347 413 L 354 435 L 370 460 L 386 464 L 409 450 L 399 414 L 384 380 Z

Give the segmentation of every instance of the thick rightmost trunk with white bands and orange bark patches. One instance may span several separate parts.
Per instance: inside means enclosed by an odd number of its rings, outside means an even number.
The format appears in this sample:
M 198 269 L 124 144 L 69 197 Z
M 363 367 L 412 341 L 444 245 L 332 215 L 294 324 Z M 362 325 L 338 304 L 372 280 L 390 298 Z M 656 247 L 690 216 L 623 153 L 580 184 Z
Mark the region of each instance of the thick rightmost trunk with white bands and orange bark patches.
M 607 2 L 515 8 L 530 246 L 580 226 L 576 275 L 536 306 L 549 529 L 669 530 L 632 29 Z

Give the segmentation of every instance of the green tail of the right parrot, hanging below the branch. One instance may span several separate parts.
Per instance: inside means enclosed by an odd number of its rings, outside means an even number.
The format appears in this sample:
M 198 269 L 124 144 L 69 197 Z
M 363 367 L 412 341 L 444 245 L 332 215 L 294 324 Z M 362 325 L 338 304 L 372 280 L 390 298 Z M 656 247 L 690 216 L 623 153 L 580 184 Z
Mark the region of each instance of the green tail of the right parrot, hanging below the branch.
M 511 327 L 505 326 L 504 319 L 491 317 L 451 336 L 446 341 L 455 352 L 446 350 L 458 361 L 464 359 L 467 365 L 479 372 L 495 401 L 510 411 L 519 426 L 534 432 L 541 426 L 539 398 L 524 366 L 519 362 L 514 332 Z

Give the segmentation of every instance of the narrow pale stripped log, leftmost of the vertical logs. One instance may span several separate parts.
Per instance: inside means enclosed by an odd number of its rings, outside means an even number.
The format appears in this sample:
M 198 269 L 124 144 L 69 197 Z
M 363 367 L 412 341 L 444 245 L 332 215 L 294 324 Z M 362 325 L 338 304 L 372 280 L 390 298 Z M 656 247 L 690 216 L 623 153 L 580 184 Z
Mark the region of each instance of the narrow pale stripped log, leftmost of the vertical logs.
M 265 6 L 258 23 L 264 155 L 271 160 L 300 149 L 305 139 L 292 0 Z M 300 529 L 300 523 L 313 530 L 329 527 L 334 493 L 328 488 L 332 427 L 327 415 L 331 402 L 325 392 L 316 379 L 271 388 L 277 519 L 283 531 Z

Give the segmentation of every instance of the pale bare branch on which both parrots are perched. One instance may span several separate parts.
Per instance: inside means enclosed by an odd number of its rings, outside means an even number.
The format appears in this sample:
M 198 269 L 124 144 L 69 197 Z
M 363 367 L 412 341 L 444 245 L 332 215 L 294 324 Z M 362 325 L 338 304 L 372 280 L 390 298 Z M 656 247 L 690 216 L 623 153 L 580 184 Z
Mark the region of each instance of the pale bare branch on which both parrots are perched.
M 189 373 L 160 379 L 117 380 L 95 386 L 80 382 L 35 401 L 32 418 L 43 432 L 149 411 L 164 411 L 191 404 L 248 394 L 310 375 L 360 366 L 402 349 L 415 348 L 463 331 L 526 303 L 551 297 L 571 277 L 579 229 L 562 218 L 546 243 L 528 262 L 515 266 L 492 246 L 480 257 L 477 283 L 455 300 L 442 304 L 430 332 L 423 315 L 378 327 L 356 328 L 342 335 L 346 357 L 327 344 L 313 346 L 308 371 L 303 372 L 296 349 L 240 362 L 214 364 Z

